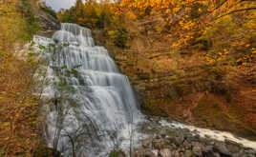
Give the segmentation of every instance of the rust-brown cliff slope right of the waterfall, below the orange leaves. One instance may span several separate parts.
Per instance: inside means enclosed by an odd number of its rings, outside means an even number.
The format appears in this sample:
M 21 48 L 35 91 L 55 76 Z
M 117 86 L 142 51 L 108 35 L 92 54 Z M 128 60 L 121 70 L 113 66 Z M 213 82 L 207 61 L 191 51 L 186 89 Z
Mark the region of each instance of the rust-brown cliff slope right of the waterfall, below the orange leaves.
M 109 40 L 95 35 L 99 44 Z M 148 44 L 151 38 L 155 42 Z M 166 41 L 150 32 L 129 40 L 126 49 L 107 46 L 138 91 L 142 111 L 255 140 L 255 78 L 235 66 L 206 65 L 205 51 L 199 49 L 190 49 L 189 55 L 170 53 Z

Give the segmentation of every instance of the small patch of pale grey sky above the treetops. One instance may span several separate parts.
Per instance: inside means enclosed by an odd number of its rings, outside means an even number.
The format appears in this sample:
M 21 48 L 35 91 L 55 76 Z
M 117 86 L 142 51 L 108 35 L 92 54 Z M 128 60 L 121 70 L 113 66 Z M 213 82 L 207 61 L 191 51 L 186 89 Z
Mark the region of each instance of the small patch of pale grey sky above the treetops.
M 53 8 L 53 10 L 70 9 L 74 4 L 75 0 L 43 0 L 47 5 Z

